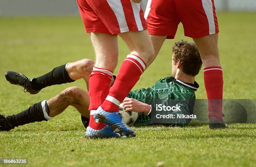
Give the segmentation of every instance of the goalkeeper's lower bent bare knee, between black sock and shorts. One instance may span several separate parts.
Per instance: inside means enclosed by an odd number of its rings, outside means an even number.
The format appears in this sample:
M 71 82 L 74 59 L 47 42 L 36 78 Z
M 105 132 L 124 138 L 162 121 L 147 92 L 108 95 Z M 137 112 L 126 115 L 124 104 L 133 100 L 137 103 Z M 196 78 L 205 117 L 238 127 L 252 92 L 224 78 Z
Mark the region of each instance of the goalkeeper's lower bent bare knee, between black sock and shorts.
M 61 114 L 70 105 L 74 106 L 82 116 L 90 117 L 88 92 L 79 87 L 69 87 L 59 95 L 47 100 L 47 103 L 50 117 Z

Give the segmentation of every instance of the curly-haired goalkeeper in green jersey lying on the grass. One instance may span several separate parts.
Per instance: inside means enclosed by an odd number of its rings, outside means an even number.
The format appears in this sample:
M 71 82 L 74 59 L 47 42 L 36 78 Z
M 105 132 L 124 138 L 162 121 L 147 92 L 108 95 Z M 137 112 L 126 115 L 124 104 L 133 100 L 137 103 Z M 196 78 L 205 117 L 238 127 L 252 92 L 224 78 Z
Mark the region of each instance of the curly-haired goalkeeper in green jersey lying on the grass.
M 171 53 L 170 53 L 171 55 Z M 29 79 L 18 72 L 8 71 L 6 80 L 24 88 L 24 92 L 37 94 L 44 87 L 74 82 L 83 78 L 89 85 L 94 61 L 89 59 L 67 63 L 54 68 L 51 72 L 37 78 Z M 172 48 L 172 76 L 158 80 L 152 87 L 131 91 L 123 102 L 127 111 L 139 112 L 134 125 L 150 125 L 151 102 L 157 99 L 195 100 L 195 91 L 199 87 L 195 76 L 200 71 L 202 60 L 195 43 L 175 42 Z M 115 81 L 112 78 L 111 85 Z M 79 87 L 69 87 L 59 95 L 38 102 L 15 115 L 0 115 L 0 131 L 8 131 L 31 122 L 47 121 L 61 114 L 68 106 L 74 106 L 82 115 L 82 122 L 88 126 L 90 111 L 88 92 Z M 92 113 L 91 113 L 92 114 Z

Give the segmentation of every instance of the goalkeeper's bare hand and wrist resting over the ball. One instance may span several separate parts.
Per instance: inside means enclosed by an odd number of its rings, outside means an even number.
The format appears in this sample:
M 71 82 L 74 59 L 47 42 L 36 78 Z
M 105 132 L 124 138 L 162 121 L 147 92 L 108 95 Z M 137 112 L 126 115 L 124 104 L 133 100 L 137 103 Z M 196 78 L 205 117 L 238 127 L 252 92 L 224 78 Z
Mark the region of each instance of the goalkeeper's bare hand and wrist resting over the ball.
M 140 102 L 136 99 L 125 98 L 125 100 L 123 100 L 123 109 L 125 111 L 144 112 L 147 114 L 151 107 L 150 105 Z

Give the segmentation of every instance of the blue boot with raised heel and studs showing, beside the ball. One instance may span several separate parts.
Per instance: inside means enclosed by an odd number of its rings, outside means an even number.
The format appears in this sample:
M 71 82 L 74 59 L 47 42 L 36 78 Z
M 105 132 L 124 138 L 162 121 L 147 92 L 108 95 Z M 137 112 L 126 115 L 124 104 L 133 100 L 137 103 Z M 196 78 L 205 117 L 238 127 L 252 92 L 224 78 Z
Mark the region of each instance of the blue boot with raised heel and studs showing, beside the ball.
M 121 137 L 135 137 L 136 132 L 128 127 L 123 121 L 118 112 L 106 112 L 99 107 L 94 114 L 95 122 L 102 122 L 114 130 L 115 133 L 119 133 Z

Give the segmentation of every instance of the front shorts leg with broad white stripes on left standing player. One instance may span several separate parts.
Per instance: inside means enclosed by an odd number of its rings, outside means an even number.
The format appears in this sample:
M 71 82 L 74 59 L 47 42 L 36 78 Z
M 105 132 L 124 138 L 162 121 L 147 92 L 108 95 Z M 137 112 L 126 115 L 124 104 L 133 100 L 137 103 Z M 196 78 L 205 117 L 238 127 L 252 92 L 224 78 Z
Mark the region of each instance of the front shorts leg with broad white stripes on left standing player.
M 87 0 L 112 35 L 146 30 L 146 20 L 138 3 L 130 0 Z

